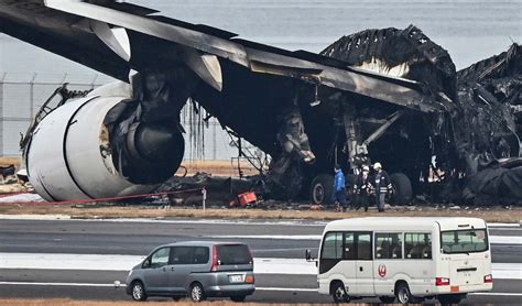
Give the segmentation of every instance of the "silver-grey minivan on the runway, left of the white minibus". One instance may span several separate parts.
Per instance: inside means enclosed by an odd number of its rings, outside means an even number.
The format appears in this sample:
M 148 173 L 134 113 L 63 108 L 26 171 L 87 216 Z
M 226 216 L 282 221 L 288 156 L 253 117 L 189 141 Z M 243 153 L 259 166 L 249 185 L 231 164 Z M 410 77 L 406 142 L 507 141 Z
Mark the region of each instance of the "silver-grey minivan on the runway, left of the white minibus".
M 194 302 L 230 297 L 243 302 L 253 294 L 253 260 L 247 244 L 192 241 L 155 248 L 127 276 L 127 294 L 134 300 L 148 296 L 188 295 Z

